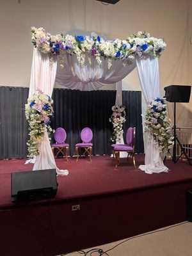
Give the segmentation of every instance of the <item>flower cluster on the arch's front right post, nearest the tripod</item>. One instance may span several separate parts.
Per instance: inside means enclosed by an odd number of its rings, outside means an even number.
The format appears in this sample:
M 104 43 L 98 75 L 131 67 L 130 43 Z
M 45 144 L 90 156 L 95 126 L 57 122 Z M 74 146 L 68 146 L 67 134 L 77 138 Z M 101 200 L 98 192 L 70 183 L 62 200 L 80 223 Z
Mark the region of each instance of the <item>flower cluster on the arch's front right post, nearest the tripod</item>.
M 167 116 L 165 99 L 155 99 L 147 106 L 145 115 L 145 131 L 150 132 L 156 143 L 159 144 L 160 152 L 169 155 L 168 150 L 173 147 L 172 127 L 170 118 Z

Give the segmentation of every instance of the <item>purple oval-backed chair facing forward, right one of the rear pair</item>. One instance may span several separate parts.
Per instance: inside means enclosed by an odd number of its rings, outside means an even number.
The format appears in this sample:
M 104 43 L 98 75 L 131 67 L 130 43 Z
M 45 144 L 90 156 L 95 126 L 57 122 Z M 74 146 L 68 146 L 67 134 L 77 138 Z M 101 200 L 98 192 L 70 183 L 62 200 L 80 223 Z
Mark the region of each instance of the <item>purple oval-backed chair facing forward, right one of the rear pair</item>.
M 81 140 L 82 143 L 77 143 L 76 144 L 76 154 L 77 154 L 77 160 L 79 159 L 79 148 L 83 148 L 84 152 L 82 156 L 85 156 L 87 153 L 90 156 L 90 161 L 92 161 L 92 146 L 93 144 L 91 143 L 93 138 L 93 132 L 89 127 L 83 128 L 81 131 Z

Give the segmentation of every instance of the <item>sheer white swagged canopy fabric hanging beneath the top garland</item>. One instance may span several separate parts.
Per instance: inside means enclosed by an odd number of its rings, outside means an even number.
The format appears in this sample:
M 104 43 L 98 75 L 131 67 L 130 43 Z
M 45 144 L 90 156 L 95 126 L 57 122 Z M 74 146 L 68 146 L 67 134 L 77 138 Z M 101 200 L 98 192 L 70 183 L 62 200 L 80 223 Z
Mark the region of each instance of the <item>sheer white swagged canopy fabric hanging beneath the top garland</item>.
M 111 60 L 108 68 L 108 59 L 102 58 L 99 65 L 94 56 L 85 58 L 83 65 L 77 61 L 76 55 L 65 54 L 64 67 L 58 61 L 56 83 L 72 90 L 92 91 L 106 84 L 121 81 L 136 67 L 136 61 L 125 65 L 124 60 Z

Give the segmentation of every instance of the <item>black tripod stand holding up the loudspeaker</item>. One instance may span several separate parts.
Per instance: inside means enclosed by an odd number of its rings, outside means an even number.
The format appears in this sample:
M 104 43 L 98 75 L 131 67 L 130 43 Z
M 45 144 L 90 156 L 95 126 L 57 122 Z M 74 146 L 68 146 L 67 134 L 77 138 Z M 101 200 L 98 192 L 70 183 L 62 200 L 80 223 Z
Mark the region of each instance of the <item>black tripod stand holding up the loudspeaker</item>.
M 174 141 L 174 145 L 173 145 L 173 156 L 172 156 L 172 160 L 174 163 L 177 163 L 177 161 L 179 161 L 180 157 L 182 156 L 182 154 L 184 154 L 184 156 L 186 157 L 186 159 L 188 160 L 189 165 L 192 166 L 191 161 L 188 157 L 188 155 L 186 154 L 186 151 L 184 150 L 184 148 L 182 147 L 182 144 L 179 141 L 179 138 L 177 137 L 177 133 L 176 133 L 176 102 L 174 102 L 174 106 L 173 106 L 173 111 L 174 111 L 174 125 L 173 125 L 173 141 Z M 176 142 L 179 144 L 180 147 L 180 151 L 181 154 L 179 157 L 177 157 L 176 154 Z

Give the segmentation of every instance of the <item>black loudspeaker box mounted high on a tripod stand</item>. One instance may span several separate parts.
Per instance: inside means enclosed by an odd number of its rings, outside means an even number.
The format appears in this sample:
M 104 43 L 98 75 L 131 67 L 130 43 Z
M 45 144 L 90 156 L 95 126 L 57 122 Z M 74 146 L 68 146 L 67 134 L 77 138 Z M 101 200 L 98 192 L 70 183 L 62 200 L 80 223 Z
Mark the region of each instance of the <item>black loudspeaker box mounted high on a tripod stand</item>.
M 167 101 L 169 102 L 189 102 L 191 94 L 190 85 L 170 85 L 164 87 Z

